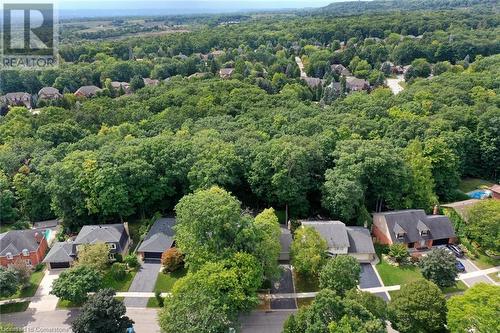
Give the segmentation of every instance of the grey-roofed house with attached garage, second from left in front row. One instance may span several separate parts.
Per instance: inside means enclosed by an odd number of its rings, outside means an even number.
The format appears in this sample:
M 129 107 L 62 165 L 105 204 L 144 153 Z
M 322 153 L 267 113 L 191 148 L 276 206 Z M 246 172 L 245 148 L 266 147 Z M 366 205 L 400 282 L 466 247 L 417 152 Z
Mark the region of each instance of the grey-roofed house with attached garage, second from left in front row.
M 127 223 L 85 225 L 73 241 L 55 243 L 44 263 L 52 269 L 67 268 L 78 257 L 82 247 L 98 243 L 108 246 L 110 260 L 115 260 L 117 254 L 126 255 L 130 247 Z

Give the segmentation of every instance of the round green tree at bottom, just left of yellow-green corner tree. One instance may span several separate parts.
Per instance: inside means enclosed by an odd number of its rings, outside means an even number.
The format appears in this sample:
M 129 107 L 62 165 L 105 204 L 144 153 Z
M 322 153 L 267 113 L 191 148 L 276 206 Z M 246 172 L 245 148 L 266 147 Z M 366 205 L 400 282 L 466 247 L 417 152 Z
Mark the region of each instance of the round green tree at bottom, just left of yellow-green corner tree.
M 401 333 L 442 332 L 446 299 L 432 282 L 419 280 L 401 287 L 389 303 L 392 326 Z

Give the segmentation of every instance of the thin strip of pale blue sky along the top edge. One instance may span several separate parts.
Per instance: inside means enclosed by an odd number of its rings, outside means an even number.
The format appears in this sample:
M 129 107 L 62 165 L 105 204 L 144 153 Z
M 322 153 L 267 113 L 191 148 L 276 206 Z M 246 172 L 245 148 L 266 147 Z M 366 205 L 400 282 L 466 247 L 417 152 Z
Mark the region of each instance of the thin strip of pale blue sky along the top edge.
M 60 17 L 178 15 L 321 7 L 338 0 L 59 0 Z

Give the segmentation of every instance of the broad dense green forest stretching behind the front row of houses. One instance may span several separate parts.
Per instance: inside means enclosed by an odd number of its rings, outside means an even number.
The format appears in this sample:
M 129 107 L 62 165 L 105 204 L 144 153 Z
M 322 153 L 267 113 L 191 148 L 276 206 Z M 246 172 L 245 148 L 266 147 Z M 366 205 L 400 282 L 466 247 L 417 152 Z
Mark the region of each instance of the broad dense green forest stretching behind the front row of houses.
M 0 219 L 58 217 L 77 230 L 168 213 L 213 185 L 249 209 L 357 225 L 374 211 L 460 199 L 461 178 L 500 174 L 499 16 L 489 6 L 262 16 L 63 44 L 58 69 L 2 73 L 4 94 L 53 86 L 64 97 L 37 101 L 36 113 L 4 106 Z M 323 87 L 300 80 L 297 56 Z M 398 95 L 383 86 L 388 62 L 412 67 Z M 329 91 L 342 81 L 337 63 L 370 92 Z M 103 90 L 74 96 L 82 85 Z

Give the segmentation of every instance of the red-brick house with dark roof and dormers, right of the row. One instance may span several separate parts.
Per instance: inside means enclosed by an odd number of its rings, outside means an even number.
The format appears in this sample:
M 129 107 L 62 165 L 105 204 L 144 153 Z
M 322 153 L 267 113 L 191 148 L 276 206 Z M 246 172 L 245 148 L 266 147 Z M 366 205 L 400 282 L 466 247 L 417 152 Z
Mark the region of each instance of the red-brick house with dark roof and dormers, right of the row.
M 402 243 L 417 250 L 456 241 L 447 216 L 426 215 L 423 209 L 375 213 L 372 233 L 380 244 Z

